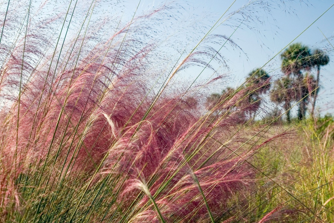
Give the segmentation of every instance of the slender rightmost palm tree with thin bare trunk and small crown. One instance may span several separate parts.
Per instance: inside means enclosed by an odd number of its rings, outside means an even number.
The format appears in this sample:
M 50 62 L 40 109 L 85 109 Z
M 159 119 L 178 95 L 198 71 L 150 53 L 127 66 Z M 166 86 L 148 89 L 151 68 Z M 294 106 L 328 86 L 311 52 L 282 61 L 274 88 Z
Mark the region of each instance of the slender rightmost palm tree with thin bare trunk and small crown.
M 313 102 L 312 102 L 312 111 L 311 115 L 314 116 L 315 102 L 317 100 L 318 91 L 319 91 L 319 81 L 320 81 L 320 67 L 325 66 L 329 63 L 328 55 L 321 49 L 316 49 L 312 55 L 313 66 L 317 70 L 317 80 L 316 80 L 316 90 L 314 91 Z

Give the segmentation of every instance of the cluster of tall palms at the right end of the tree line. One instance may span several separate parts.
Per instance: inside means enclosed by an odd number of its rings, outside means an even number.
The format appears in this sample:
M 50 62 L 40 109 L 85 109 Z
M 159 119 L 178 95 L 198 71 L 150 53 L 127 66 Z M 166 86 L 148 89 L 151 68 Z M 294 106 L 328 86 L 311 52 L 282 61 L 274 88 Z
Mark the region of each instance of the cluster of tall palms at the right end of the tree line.
M 320 66 L 329 63 L 328 55 L 316 49 L 313 53 L 308 46 L 301 43 L 291 44 L 281 54 L 282 72 L 286 75 L 276 81 L 271 91 L 271 99 L 276 104 L 283 104 L 290 120 L 292 102 L 299 102 L 298 118 L 303 119 L 309 102 L 312 102 L 311 115 L 314 115 L 315 102 L 319 91 Z M 311 68 L 317 68 L 317 79 L 309 73 Z M 312 100 L 313 97 L 313 100 Z

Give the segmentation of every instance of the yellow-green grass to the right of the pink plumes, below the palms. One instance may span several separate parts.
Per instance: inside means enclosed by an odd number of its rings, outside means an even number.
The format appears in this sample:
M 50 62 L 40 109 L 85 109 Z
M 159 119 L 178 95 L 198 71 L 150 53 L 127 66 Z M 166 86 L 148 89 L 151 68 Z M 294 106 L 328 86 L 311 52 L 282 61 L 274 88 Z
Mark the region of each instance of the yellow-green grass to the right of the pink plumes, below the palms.
M 334 122 L 330 116 L 286 126 L 289 136 L 263 148 L 254 163 L 265 183 L 258 191 L 259 212 L 291 207 L 294 222 L 333 222 Z M 279 130 L 277 130 L 279 131 Z M 272 179 L 273 181 L 269 180 Z M 265 193 L 266 195 L 264 195 Z M 308 219 L 308 220 L 305 220 Z

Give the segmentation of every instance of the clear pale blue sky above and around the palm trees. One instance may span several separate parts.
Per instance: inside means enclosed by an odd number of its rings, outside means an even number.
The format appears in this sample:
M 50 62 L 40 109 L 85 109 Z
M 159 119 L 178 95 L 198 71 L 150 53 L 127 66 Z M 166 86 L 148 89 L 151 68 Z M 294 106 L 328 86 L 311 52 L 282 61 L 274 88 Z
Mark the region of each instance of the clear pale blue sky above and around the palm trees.
M 196 14 L 203 18 L 203 23 L 213 25 L 213 23 L 225 12 L 234 0 L 188 0 L 174 1 L 189 6 L 185 10 L 184 19 L 191 14 Z M 169 4 L 170 1 L 167 2 Z M 229 12 L 240 8 L 246 4 L 246 0 L 236 0 Z M 273 1 L 275 2 L 275 1 Z M 283 2 L 277 0 L 276 2 Z M 264 23 L 254 22 L 253 29 L 238 29 L 231 37 L 235 43 L 241 47 L 245 54 L 235 51 L 224 51 L 228 59 L 230 82 L 228 85 L 235 86 L 240 83 L 245 75 L 257 67 L 262 67 L 273 58 L 282 48 L 293 41 L 304 29 L 311 25 L 321 14 L 329 9 L 333 0 L 310 0 L 310 1 L 285 1 L 285 6 L 275 7 L 270 12 L 258 11 L 260 20 Z M 288 2 L 288 3 L 287 3 Z M 126 0 L 126 14 L 131 17 L 139 4 L 139 14 L 142 11 L 153 9 L 166 1 L 160 0 Z M 229 36 L 233 29 L 226 26 L 218 27 L 217 34 Z M 328 38 L 326 40 L 324 35 Z M 328 49 L 331 57 L 329 65 L 321 70 L 322 89 L 319 96 L 318 108 L 321 113 L 334 111 L 334 53 L 330 45 L 334 45 L 334 6 L 330 8 L 321 18 L 319 18 L 310 28 L 302 33 L 294 42 L 302 42 L 314 48 Z M 330 43 L 329 43 L 330 42 Z M 226 55 L 227 54 L 227 55 Z M 277 78 L 283 75 L 280 71 L 280 57 L 274 58 L 265 68 Z

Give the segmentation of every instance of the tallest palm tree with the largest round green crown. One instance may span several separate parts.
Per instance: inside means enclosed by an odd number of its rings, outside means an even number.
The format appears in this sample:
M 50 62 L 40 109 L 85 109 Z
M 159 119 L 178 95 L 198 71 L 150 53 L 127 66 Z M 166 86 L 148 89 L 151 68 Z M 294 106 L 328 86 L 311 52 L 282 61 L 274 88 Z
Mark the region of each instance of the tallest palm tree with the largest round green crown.
M 313 66 L 313 57 L 310 49 L 301 43 L 291 44 L 281 55 L 282 71 L 291 78 L 292 86 L 296 89 L 296 100 L 300 101 L 298 117 L 303 119 L 306 114 L 306 105 L 308 102 L 307 88 L 304 83 L 303 70 L 310 70 Z

